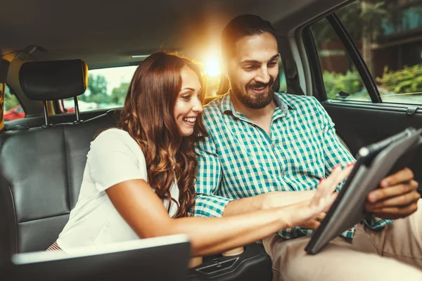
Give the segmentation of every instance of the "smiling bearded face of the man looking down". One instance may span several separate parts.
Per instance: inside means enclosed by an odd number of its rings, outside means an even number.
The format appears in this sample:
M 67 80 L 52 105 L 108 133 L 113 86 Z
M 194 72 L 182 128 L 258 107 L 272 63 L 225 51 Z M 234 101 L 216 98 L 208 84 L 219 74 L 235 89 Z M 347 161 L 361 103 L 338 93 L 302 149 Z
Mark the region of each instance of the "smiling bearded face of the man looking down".
M 274 96 L 272 86 L 279 74 L 277 41 L 271 34 L 246 36 L 236 42 L 235 53 L 227 58 L 231 91 L 243 105 L 261 109 Z

